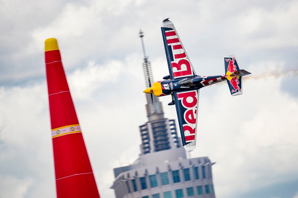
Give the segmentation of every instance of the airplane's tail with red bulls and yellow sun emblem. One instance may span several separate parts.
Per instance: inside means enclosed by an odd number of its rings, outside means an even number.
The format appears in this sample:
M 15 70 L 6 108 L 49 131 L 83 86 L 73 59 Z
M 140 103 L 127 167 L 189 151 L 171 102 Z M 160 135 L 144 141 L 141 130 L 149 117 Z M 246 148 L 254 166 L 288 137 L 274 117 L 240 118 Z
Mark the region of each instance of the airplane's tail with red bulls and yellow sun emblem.
M 251 74 L 244 69 L 239 69 L 235 55 L 224 57 L 226 81 L 232 96 L 242 94 L 242 76 Z

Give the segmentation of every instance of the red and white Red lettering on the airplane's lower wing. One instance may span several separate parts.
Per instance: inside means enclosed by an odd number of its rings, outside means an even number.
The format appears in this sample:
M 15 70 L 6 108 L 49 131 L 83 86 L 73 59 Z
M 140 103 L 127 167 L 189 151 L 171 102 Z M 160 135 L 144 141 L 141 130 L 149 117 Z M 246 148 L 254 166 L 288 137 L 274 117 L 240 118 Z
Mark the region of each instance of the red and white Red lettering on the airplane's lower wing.
M 197 118 L 197 91 L 187 91 L 177 94 L 181 104 L 186 110 L 184 111 L 183 132 L 186 142 L 195 140 L 195 127 Z

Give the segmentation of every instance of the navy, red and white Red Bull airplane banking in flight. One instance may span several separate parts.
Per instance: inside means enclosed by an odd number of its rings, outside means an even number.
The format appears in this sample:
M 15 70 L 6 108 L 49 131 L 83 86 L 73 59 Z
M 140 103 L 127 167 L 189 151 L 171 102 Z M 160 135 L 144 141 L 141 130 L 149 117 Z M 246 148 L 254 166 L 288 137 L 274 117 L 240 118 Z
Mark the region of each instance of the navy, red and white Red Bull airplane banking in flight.
M 182 145 L 185 151 L 193 151 L 196 145 L 198 123 L 198 99 L 200 88 L 227 81 L 232 96 L 242 94 L 242 76 L 251 74 L 239 69 L 235 55 L 225 56 L 225 75 L 199 76 L 196 74 L 183 47 L 174 24 L 169 18 L 162 21 L 162 38 L 170 75 L 153 83 L 143 92 L 155 96 L 172 96 L 168 105 L 176 105 Z M 152 100 L 153 102 L 153 100 Z

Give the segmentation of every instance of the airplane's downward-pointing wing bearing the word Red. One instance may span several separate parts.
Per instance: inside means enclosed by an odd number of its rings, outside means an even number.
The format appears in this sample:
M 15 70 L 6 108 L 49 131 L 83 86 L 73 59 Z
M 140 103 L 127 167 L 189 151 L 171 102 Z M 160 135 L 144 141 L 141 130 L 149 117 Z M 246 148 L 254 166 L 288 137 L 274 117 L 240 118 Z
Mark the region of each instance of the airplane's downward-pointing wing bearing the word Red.
M 193 151 L 197 135 L 199 90 L 175 92 L 174 100 L 182 145 L 185 151 Z

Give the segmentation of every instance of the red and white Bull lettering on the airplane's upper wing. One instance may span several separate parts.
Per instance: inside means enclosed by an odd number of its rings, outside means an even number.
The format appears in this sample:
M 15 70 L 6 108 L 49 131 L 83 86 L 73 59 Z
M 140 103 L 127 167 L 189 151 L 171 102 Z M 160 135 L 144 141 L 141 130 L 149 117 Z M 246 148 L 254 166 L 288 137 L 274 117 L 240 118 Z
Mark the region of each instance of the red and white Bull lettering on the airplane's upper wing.
M 172 47 L 174 60 L 171 61 L 171 64 L 174 78 L 194 75 L 192 65 L 187 59 L 187 55 L 184 52 L 175 30 L 165 31 L 165 35 L 167 45 Z

